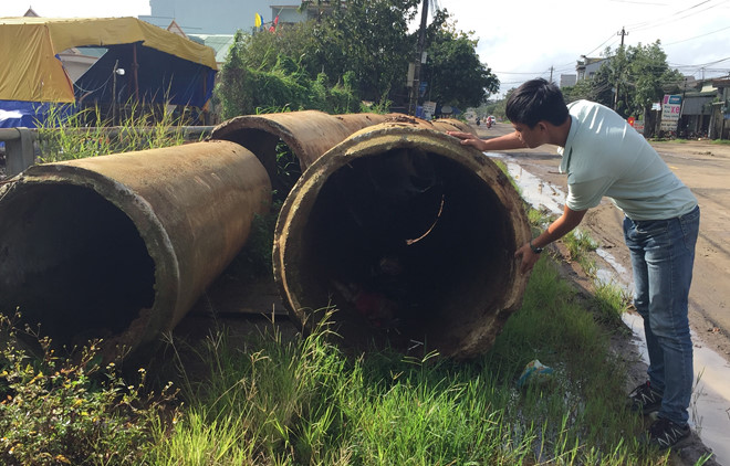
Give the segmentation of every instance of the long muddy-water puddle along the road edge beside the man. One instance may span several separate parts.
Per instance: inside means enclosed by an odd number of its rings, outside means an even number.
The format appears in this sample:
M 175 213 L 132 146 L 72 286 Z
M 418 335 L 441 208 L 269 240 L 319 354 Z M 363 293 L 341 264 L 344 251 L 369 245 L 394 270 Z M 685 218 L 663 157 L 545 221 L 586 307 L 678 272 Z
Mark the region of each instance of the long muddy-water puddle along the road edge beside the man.
M 489 153 L 505 162 L 508 172 L 514 178 L 522 191 L 522 197 L 535 209 L 546 209 L 554 213 L 563 212 L 565 194 L 559 187 L 546 183 L 534 174 L 524 171 L 509 156 Z M 614 283 L 633 292 L 633 284 L 627 282 L 630 271 L 620 265 L 608 252 L 598 248 L 596 253 L 612 267 L 601 269 L 597 278 L 604 283 Z M 624 322 L 633 330 L 634 340 L 642 359 L 648 363 L 644 324 L 636 314 L 624 314 Z M 702 340 L 692 332 L 695 342 L 695 390 L 690 404 L 690 424 L 698 433 L 702 443 L 715 454 L 719 464 L 730 465 L 730 364 L 717 352 L 707 348 Z

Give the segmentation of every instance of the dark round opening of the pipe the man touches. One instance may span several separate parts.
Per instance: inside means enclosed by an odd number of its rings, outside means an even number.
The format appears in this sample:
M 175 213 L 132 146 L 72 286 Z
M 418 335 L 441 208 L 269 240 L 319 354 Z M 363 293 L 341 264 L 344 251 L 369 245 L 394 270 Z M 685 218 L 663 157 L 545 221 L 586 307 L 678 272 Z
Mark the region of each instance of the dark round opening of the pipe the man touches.
M 451 158 L 418 147 L 353 158 L 302 227 L 300 303 L 335 305 L 348 345 L 385 337 L 450 353 L 504 307 L 512 224 L 492 188 Z

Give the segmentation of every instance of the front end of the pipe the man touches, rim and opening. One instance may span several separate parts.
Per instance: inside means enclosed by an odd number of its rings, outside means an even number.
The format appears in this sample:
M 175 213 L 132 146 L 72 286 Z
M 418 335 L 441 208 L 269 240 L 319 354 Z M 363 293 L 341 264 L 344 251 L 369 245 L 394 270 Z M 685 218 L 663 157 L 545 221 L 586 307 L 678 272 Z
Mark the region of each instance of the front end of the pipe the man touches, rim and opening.
M 303 328 L 330 305 L 347 345 L 470 358 L 522 300 L 522 200 L 483 153 L 419 124 L 355 133 L 286 198 L 274 278 Z

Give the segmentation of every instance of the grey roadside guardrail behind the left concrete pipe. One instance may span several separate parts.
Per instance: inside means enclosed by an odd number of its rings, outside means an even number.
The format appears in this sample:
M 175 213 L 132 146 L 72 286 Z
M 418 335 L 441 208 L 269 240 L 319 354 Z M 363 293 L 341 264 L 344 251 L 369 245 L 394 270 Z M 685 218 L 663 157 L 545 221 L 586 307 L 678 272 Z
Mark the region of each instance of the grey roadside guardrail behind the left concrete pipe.
M 107 137 L 124 136 L 126 133 L 145 134 L 158 131 L 158 128 L 127 128 L 109 127 L 100 128 Z M 168 134 L 182 133 L 185 140 L 199 140 L 208 136 L 213 126 L 180 126 L 167 129 Z M 61 129 L 59 129 L 61 130 Z M 67 133 L 96 134 L 97 128 L 63 129 Z M 48 130 L 46 130 L 48 131 Z M 14 177 L 28 167 L 35 163 L 35 142 L 42 137 L 35 128 L 0 128 L 0 142 L 6 142 L 6 174 Z

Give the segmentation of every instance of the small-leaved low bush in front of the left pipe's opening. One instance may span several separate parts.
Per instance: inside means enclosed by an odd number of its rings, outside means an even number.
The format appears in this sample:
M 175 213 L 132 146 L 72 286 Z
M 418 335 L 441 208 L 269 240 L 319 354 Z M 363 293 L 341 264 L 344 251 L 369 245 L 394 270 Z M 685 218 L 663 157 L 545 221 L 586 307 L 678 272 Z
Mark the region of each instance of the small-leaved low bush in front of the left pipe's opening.
M 139 464 L 171 406 L 170 385 L 144 393 L 144 369 L 136 385 L 126 384 L 114 363 L 102 366 L 100 341 L 64 359 L 50 339 L 33 337 L 34 358 L 19 339 L 30 335 L 0 315 L 0 464 Z M 174 409 L 168 414 L 177 416 Z

